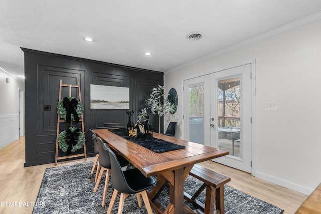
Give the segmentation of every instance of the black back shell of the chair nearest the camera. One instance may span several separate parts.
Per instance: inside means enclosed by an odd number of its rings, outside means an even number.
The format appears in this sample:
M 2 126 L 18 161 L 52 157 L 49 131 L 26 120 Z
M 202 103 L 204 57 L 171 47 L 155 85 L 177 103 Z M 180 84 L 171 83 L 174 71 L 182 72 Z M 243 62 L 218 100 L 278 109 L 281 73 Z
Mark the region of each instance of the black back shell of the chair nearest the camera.
M 115 155 L 115 153 L 108 147 L 107 143 L 103 144 L 104 149 L 106 149 L 106 152 L 108 152 L 110 157 L 110 163 L 111 163 L 111 182 L 117 191 L 122 193 L 136 193 L 135 190 L 131 189 L 128 186 L 128 183 L 126 181 L 126 178 L 124 176 L 123 171 L 121 170 L 121 166 L 119 164 L 119 161 Z M 100 155 L 100 154 L 99 154 Z

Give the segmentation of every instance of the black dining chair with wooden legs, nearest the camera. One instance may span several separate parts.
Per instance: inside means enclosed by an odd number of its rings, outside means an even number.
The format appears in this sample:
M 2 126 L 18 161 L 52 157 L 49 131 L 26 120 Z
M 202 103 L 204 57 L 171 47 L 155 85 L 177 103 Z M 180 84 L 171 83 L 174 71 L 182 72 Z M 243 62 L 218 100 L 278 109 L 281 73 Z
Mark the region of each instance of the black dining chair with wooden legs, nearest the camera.
M 115 153 L 108 147 L 106 143 L 103 144 L 104 149 L 108 151 L 111 162 L 111 182 L 114 186 L 114 192 L 111 196 L 111 201 L 108 206 L 107 214 L 111 213 L 111 209 L 115 203 L 118 192 L 120 192 L 120 201 L 118 213 L 122 213 L 124 200 L 129 194 L 136 194 L 138 206 L 141 207 L 141 198 L 145 203 L 147 213 L 152 214 L 150 203 L 148 200 L 146 189 L 156 183 L 153 177 L 145 177 L 137 168 L 121 170 Z

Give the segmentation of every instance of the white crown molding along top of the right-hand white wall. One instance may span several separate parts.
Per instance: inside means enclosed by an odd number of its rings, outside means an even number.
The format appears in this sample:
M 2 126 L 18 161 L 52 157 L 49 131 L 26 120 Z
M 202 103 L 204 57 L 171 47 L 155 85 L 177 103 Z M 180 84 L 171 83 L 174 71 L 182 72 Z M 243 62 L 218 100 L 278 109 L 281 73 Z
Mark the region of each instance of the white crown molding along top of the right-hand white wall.
M 222 49 L 220 51 L 214 52 L 212 54 L 209 54 L 209 55 L 206 55 L 204 57 L 198 58 L 198 59 L 193 60 L 191 62 L 188 62 L 186 64 L 183 64 L 183 65 L 180 65 L 178 67 L 172 68 L 172 69 L 170 69 L 168 71 L 165 71 L 164 73 L 168 74 L 168 73 L 172 73 L 172 72 L 181 70 L 181 69 L 186 68 L 188 66 L 192 66 L 192 65 L 194 65 L 196 63 L 199 63 L 199 62 L 214 58 L 216 56 L 219 56 L 219 55 L 234 51 L 234 50 L 239 49 L 241 47 L 256 43 L 258 41 L 267 39 L 269 37 L 272 37 L 272 36 L 275 36 L 275 35 L 278 35 L 278 34 L 281 34 L 283 32 L 289 31 L 291 29 L 298 28 L 300 26 L 309 24 L 309 23 L 314 22 L 314 21 L 319 20 L 319 19 L 321 19 L 321 12 L 318 12 L 318 13 L 312 14 L 310 16 L 304 17 L 302 19 L 296 20 L 294 22 L 288 23 L 286 25 L 283 25 L 281 27 L 273 29 L 273 30 L 271 30 L 269 32 L 260 34 L 260 35 L 258 35 L 256 37 L 251 38 L 251 39 L 245 40 L 245 41 L 240 42 L 238 44 L 235 44 L 235 45 L 232 45 L 232 46 L 227 47 L 225 49 Z

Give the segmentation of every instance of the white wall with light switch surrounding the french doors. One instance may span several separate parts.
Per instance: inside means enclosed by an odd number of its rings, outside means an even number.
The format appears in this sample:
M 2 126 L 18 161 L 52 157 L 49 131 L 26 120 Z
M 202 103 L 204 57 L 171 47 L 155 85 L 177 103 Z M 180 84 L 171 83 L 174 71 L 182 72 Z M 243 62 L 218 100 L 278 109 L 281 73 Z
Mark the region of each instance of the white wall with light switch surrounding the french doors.
M 320 20 L 166 72 L 165 87 L 178 91 L 179 107 L 165 120 L 177 120 L 177 137 L 183 138 L 182 80 L 251 59 L 256 60 L 253 175 L 310 194 L 321 181 Z M 265 102 L 277 102 L 277 110 L 265 111 Z

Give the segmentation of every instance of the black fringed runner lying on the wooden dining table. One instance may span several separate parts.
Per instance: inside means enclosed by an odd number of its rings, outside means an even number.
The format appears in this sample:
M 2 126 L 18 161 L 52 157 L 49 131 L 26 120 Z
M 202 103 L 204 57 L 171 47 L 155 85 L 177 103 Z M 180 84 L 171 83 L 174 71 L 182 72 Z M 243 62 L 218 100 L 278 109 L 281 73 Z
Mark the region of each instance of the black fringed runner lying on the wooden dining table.
M 108 130 L 114 134 L 117 134 L 127 140 L 130 140 L 133 143 L 143 146 L 156 153 L 163 153 L 167 151 L 173 151 L 173 150 L 185 148 L 185 146 L 177 145 L 175 143 L 171 143 L 169 141 L 165 141 L 154 137 L 150 140 L 147 140 L 145 139 L 145 134 L 142 134 L 142 133 L 138 133 L 137 137 L 129 137 L 126 128 L 108 129 Z

